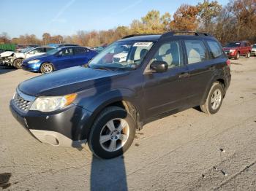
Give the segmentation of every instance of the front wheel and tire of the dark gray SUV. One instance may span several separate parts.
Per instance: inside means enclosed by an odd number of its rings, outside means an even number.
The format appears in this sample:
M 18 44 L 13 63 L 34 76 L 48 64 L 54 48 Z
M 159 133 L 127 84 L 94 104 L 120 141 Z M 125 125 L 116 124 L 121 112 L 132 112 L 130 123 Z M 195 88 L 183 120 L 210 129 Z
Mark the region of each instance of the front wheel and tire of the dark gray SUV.
M 122 130 L 118 129 L 121 127 L 119 125 L 123 126 L 120 128 Z M 89 148 L 94 155 L 100 158 L 118 157 L 131 146 L 135 137 L 135 129 L 135 121 L 126 110 L 118 106 L 107 107 L 99 114 L 91 127 Z

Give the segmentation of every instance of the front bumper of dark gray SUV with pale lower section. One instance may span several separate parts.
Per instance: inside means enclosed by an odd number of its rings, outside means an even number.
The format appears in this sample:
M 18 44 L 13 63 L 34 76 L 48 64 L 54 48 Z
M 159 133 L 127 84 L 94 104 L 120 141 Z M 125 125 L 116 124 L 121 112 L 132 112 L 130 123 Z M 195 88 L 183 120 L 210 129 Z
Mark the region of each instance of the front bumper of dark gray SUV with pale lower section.
M 10 102 L 10 110 L 26 130 L 36 139 L 53 146 L 83 147 L 91 112 L 74 104 L 58 112 L 42 113 L 37 111 L 20 112 Z

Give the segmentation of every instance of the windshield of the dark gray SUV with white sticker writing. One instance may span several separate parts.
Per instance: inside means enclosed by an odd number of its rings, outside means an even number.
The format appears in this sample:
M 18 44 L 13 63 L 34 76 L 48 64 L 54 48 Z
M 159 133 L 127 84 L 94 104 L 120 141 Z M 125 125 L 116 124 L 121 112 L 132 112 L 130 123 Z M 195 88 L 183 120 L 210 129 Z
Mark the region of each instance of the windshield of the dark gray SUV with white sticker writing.
M 89 63 L 94 69 L 136 69 L 153 42 L 120 41 L 110 44 Z

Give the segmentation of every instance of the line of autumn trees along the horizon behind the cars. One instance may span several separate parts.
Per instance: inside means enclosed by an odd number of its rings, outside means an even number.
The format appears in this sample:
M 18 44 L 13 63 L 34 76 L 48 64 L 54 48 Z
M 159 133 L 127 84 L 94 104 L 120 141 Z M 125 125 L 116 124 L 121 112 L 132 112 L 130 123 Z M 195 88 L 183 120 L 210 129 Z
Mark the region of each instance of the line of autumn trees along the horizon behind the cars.
M 225 6 L 218 1 L 203 0 L 197 5 L 181 4 L 174 12 L 161 15 L 157 10 L 133 20 L 129 26 L 102 31 L 78 31 L 70 36 L 42 34 L 20 35 L 10 39 L 0 35 L 0 43 L 50 44 L 72 43 L 87 47 L 110 44 L 129 34 L 162 34 L 167 31 L 201 31 L 214 35 L 222 44 L 230 41 L 256 42 L 256 0 L 230 0 Z

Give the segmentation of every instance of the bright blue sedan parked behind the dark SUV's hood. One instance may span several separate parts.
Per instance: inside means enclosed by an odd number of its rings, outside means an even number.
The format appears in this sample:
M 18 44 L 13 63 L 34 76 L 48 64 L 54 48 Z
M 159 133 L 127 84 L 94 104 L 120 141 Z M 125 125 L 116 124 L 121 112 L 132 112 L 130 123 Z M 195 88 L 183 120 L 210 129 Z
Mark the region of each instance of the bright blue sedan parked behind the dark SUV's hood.
M 88 63 L 97 52 L 86 47 L 57 47 L 44 55 L 38 55 L 23 61 L 22 69 L 48 74 L 59 69 L 80 66 Z

